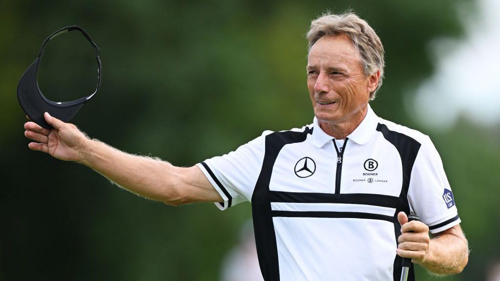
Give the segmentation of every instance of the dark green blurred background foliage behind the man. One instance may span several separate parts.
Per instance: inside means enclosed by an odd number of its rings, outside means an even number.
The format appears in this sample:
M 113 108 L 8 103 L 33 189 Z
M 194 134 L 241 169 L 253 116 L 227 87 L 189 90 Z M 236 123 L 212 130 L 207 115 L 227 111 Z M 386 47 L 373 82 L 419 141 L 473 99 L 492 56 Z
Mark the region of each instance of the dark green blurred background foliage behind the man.
M 457 6 L 460 6 L 460 9 Z M 305 86 L 310 20 L 352 8 L 380 36 L 384 84 L 371 102 L 386 119 L 431 136 L 483 280 L 498 261 L 500 130 L 461 117 L 446 129 L 418 118 L 412 95 L 435 71 L 429 42 L 460 39 L 473 1 L 0 2 L 0 280 L 219 280 L 250 204 L 166 206 L 123 191 L 89 168 L 30 151 L 16 86 L 47 35 L 84 28 L 101 48 L 99 93 L 73 118 L 130 153 L 193 165 L 263 130 L 312 121 Z M 77 32 L 50 41 L 39 85 L 53 100 L 91 93 L 93 50 Z M 466 78 L 466 77 L 464 77 Z M 419 280 L 432 280 L 417 269 Z

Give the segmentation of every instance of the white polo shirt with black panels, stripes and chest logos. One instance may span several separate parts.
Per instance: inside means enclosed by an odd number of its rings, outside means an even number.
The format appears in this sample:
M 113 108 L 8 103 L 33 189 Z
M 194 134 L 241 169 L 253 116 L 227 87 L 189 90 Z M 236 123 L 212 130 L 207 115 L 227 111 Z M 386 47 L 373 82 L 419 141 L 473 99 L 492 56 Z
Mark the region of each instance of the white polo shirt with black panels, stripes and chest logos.
M 431 233 L 460 222 L 429 137 L 369 105 L 343 141 L 314 118 L 299 129 L 265 131 L 197 166 L 224 199 L 220 209 L 252 203 L 267 281 L 399 280 L 399 211 L 420 216 Z

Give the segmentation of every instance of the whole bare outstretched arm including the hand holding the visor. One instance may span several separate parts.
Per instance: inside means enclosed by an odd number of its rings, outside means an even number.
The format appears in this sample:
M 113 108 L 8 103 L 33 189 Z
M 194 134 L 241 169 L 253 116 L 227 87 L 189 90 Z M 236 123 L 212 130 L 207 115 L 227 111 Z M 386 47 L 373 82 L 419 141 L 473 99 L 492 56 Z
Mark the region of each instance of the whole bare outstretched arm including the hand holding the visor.
M 52 129 L 24 124 L 24 135 L 36 141 L 28 144 L 32 150 L 84 164 L 131 192 L 166 204 L 223 201 L 196 166 L 176 167 L 159 158 L 128 154 L 89 139 L 73 124 L 48 113 L 44 117 Z

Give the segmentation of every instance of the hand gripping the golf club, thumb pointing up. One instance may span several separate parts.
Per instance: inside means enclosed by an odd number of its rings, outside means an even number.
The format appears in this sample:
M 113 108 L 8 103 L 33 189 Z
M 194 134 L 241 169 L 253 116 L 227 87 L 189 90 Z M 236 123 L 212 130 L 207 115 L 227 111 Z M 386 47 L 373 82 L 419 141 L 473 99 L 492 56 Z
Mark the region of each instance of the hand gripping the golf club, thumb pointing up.
M 411 258 L 413 263 L 424 262 L 429 252 L 429 227 L 417 220 L 408 222 L 408 216 L 402 211 L 397 214 L 397 220 L 401 224 L 401 235 L 397 238 L 396 253 Z

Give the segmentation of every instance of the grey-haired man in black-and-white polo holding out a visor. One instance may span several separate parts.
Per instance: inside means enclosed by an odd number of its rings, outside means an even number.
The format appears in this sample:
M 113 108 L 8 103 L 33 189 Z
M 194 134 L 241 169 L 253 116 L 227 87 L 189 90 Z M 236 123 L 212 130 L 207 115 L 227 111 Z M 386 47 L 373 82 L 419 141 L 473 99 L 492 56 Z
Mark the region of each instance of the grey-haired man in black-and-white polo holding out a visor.
M 192 167 L 121 152 L 48 113 L 51 130 L 24 124 L 28 146 L 166 204 L 251 201 L 265 280 L 399 280 L 402 257 L 460 272 L 467 240 L 437 151 L 368 104 L 382 83 L 380 39 L 353 13 L 318 17 L 307 39 L 310 125 L 266 131 Z

